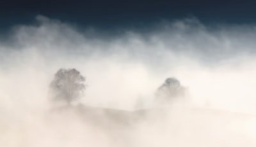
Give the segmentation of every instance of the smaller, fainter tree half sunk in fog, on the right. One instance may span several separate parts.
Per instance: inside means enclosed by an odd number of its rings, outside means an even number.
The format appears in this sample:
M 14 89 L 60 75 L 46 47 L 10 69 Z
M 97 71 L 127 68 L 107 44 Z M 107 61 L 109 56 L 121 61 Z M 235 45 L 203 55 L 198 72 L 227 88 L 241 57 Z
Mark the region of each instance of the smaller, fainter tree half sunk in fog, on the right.
M 170 100 L 174 97 L 180 97 L 184 95 L 185 88 L 180 85 L 180 81 L 177 78 L 167 78 L 163 85 L 157 89 L 156 98 L 161 101 Z

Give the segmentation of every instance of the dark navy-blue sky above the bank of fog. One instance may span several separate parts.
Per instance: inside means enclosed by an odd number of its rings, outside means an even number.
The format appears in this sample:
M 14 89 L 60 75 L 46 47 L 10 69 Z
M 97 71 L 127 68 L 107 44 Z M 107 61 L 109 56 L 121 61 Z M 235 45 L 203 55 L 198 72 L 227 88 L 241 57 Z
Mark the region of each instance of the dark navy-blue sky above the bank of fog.
M 1 1 L 0 28 L 26 24 L 36 15 L 76 25 L 120 27 L 195 16 L 204 23 L 256 22 L 256 1 Z

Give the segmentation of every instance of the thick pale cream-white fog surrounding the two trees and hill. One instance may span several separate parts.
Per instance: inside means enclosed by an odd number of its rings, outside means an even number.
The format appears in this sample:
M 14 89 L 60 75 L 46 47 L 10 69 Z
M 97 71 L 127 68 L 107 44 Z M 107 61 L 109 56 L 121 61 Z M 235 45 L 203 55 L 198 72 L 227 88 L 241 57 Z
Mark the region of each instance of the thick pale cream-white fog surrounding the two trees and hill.
M 255 146 L 256 25 L 183 18 L 150 28 L 111 36 L 38 15 L 2 35 L 0 145 Z M 61 67 L 86 78 L 70 107 L 51 101 Z M 157 88 L 172 76 L 185 99 L 156 106 Z M 129 116 L 119 121 L 109 109 Z M 147 115 L 137 119 L 137 109 Z

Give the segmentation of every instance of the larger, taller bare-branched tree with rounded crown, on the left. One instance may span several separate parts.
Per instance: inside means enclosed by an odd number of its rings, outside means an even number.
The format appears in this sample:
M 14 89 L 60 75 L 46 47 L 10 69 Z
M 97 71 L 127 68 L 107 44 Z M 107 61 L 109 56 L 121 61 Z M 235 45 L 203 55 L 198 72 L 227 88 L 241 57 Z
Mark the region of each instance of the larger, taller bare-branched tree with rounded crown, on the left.
M 84 81 L 84 76 L 76 69 L 59 69 L 51 82 L 54 99 L 68 104 L 77 100 L 85 89 Z

